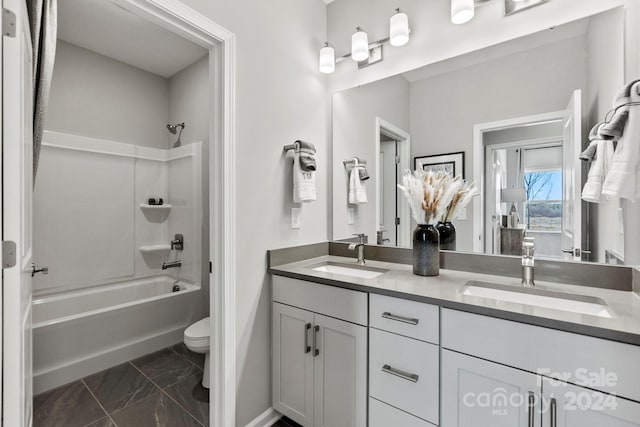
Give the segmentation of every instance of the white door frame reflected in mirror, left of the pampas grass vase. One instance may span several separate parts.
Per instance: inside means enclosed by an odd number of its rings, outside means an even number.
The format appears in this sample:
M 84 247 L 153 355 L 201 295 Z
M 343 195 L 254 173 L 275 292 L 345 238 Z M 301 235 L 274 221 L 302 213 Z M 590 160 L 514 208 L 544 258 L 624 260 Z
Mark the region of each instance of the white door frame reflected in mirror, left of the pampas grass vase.
M 380 200 L 378 195 L 380 194 L 380 173 L 382 165 L 380 164 L 380 133 L 387 135 L 390 138 L 394 138 L 398 144 L 398 156 L 400 157 L 399 166 L 401 170 L 410 170 L 411 163 L 411 135 L 409 133 L 398 126 L 389 123 L 388 121 L 376 117 L 376 231 L 378 231 L 378 227 L 380 226 Z M 396 203 L 397 197 L 396 197 Z M 397 206 L 398 218 L 401 218 L 400 227 L 398 227 L 397 232 L 397 240 L 398 246 L 409 246 L 410 243 L 410 222 L 411 222 L 411 213 L 409 212 L 409 204 L 408 203 L 400 203 Z M 404 244 L 403 244 L 404 243 Z

